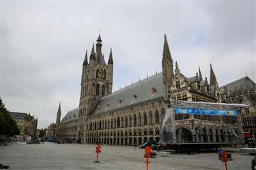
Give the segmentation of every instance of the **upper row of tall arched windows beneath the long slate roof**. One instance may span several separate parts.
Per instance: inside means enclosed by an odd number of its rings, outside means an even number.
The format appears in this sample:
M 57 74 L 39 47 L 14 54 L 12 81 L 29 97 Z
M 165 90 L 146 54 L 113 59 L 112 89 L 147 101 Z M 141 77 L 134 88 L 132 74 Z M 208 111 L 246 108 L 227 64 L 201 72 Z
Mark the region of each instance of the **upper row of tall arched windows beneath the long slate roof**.
M 148 114 L 144 112 L 143 114 L 133 114 L 128 116 L 121 116 L 117 118 L 105 119 L 105 120 L 97 120 L 88 122 L 86 124 L 87 131 L 95 131 L 102 129 L 113 129 L 113 128 L 122 128 L 128 126 L 141 126 L 147 124 L 158 124 L 160 123 L 160 117 L 163 118 L 165 115 L 165 109 L 162 108 L 161 115 L 158 112 L 158 109 L 152 113 L 150 111 Z

